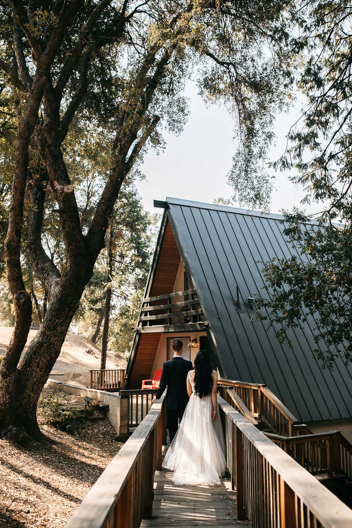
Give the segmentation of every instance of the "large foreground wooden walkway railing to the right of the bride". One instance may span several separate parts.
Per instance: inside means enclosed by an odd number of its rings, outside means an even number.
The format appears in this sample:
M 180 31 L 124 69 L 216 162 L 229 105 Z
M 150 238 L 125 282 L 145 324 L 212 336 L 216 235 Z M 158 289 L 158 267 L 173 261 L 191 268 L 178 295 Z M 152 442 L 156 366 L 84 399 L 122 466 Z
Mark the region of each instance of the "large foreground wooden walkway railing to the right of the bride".
M 239 521 L 253 528 L 347 528 L 352 511 L 223 398 L 227 466 Z

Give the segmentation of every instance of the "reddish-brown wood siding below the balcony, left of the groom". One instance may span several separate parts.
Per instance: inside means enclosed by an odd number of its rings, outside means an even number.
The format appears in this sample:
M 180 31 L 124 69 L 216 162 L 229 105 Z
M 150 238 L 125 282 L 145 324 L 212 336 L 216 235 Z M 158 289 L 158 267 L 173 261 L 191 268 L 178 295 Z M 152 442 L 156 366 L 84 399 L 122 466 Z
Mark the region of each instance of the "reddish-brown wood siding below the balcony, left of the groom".
M 161 332 L 141 334 L 135 364 L 128 382 L 128 388 L 130 390 L 140 389 L 142 380 L 149 379 L 150 373 L 153 370 L 152 367 L 158 350 L 160 336 Z

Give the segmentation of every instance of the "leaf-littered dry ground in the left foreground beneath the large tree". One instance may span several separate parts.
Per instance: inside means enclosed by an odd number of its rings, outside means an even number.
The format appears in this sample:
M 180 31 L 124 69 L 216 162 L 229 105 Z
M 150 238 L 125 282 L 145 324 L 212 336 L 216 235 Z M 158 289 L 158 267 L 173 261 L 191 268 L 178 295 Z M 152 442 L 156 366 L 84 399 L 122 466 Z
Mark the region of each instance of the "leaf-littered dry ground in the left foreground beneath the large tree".
M 44 388 L 41 398 L 52 395 Z M 54 398 L 68 408 L 83 409 L 84 400 L 65 392 Z M 47 408 L 47 406 L 45 406 Z M 55 440 L 24 449 L 0 438 L 0 526 L 8 528 L 62 528 L 122 444 L 107 418 L 84 421 L 77 436 L 43 425 Z

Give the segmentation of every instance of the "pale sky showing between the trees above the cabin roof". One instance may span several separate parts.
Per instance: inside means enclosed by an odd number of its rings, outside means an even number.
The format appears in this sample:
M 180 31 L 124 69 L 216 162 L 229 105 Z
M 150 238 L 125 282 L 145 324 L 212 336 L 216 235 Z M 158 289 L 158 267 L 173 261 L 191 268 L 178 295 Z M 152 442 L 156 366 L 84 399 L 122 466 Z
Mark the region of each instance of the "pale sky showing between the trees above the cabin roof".
M 233 196 L 226 177 L 235 152 L 232 118 L 224 108 L 207 108 L 193 84 L 187 86 L 185 95 L 191 99 L 191 112 L 183 133 L 179 137 L 164 135 L 167 143 L 164 152 L 158 156 L 153 150 L 147 153 L 141 167 L 146 180 L 136 182 L 144 207 L 151 212 L 160 212 L 153 208 L 153 200 L 165 200 L 166 196 L 207 203 L 219 196 Z M 284 152 L 285 136 L 299 117 L 301 105 L 296 103 L 288 114 L 277 117 L 272 160 Z M 287 174 L 278 172 L 275 185 L 277 190 L 270 204 L 272 213 L 300 205 L 303 193 L 293 186 Z M 318 212 L 321 206 L 306 207 L 306 210 Z

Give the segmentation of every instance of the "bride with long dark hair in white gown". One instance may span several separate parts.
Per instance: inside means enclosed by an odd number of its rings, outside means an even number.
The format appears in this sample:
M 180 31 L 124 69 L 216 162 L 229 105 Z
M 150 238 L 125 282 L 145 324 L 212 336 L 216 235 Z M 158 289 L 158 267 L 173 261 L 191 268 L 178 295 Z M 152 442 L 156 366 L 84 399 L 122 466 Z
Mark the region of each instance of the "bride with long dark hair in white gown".
M 225 473 L 225 442 L 217 412 L 217 373 L 201 350 L 188 372 L 189 402 L 163 467 L 174 471 L 175 484 L 220 484 Z

